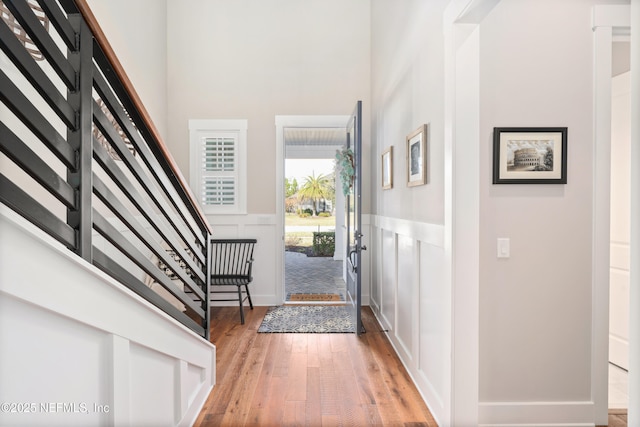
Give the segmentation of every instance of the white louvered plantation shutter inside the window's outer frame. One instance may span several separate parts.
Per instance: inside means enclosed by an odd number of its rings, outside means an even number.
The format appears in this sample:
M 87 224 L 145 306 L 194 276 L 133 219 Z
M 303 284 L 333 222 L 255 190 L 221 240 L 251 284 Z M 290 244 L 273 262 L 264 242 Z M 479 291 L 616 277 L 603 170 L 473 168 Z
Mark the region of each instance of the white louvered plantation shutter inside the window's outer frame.
M 201 202 L 204 206 L 236 204 L 238 137 L 234 134 L 202 138 Z

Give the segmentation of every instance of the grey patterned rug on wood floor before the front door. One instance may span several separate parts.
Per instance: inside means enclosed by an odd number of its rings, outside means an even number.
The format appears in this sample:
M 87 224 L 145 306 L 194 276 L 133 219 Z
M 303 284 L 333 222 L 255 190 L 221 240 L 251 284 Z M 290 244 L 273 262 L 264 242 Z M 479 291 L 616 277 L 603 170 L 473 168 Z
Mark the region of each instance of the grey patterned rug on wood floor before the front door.
M 355 330 L 345 306 L 281 305 L 270 307 L 259 333 L 351 333 Z

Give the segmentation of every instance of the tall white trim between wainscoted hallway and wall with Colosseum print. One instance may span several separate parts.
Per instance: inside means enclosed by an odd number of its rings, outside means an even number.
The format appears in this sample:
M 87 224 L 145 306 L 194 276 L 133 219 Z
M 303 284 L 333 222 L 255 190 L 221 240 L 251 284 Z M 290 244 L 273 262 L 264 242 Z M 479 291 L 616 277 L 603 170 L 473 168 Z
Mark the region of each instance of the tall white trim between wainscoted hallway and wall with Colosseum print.
M 480 38 L 478 27 L 500 0 L 454 0 L 445 34 L 444 263 L 450 304 L 444 367 L 445 425 L 477 425 L 480 312 Z M 465 63 L 462 64 L 461 61 Z

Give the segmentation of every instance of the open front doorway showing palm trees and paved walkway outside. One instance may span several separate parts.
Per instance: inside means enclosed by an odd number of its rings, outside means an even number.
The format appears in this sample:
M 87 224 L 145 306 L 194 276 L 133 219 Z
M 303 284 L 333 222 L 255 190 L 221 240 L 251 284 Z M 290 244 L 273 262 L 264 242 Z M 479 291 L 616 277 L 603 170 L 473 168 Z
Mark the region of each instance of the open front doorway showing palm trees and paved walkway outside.
M 284 301 L 343 304 L 344 196 L 335 153 L 344 127 L 286 127 L 284 135 Z

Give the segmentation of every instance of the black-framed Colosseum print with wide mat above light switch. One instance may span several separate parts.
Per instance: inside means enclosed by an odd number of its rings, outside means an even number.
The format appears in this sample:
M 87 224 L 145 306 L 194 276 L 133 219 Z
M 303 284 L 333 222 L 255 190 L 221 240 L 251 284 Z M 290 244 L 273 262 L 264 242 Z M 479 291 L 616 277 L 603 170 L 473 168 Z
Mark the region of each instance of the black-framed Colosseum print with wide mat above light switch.
M 566 184 L 567 128 L 493 128 L 494 184 Z

